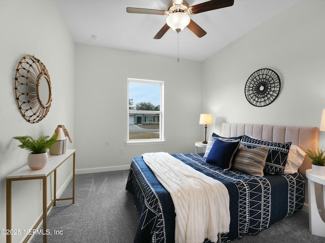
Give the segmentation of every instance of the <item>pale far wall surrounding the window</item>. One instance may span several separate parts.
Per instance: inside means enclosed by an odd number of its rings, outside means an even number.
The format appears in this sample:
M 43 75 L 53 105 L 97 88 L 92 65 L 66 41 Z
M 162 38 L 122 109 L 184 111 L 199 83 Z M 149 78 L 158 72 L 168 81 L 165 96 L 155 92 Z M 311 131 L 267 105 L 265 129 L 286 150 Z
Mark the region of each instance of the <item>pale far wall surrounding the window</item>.
M 200 62 L 79 44 L 76 70 L 77 173 L 128 169 L 144 152 L 194 152 L 203 141 Z M 128 77 L 165 82 L 165 144 L 125 145 Z

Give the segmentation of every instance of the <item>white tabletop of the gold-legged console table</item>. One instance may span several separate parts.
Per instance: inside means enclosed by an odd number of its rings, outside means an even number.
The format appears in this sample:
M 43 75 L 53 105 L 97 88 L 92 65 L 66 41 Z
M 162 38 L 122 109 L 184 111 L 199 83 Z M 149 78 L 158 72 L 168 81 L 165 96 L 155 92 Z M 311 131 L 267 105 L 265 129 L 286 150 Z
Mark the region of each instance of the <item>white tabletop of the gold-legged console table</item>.
M 70 157 L 75 151 L 76 149 L 67 149 L 66 153 L 63 153 L 61 155 L 49 155 L 45 167 L 41 170 L 31 170 L 26 165 L 17 171 L 7 175 L 6 179 L 48 176 L 63 161 L 66 161 L 66 159 Z

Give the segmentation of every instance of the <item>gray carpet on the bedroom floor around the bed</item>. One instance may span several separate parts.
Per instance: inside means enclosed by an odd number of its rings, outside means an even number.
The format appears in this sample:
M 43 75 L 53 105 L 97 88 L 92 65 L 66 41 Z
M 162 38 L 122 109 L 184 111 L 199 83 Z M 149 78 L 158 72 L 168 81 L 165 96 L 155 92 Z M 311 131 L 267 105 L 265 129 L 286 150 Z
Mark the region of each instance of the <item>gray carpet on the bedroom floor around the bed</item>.
M 128 171 L 76 175 L 75 204 L 58 201 L 48 216 L 52 235 L 49 243 L 131 243 L 137 229 L 139 214 L 131 193 L 125 190 Z M 72 182 L 61 197 L 69 197 Z M 298 212 L 257 235 L 244 235 L 236 243 L 247 242 L 313 242 L 325 243 L 325 237 L 309 232 L 308 214 Z M 61 235 L 54 235 L 61 230 Z M 324 229 L 325 230 L 325 229 Z M 36 235 L 31 243 L 43 242 Z

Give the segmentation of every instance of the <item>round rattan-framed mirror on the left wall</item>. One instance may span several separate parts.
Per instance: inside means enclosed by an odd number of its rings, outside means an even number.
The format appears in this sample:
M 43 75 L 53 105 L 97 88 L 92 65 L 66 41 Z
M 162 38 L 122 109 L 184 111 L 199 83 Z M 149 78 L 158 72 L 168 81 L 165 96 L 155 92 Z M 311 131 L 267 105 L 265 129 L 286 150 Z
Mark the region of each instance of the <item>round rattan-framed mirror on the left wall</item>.
M 38 58 L 27 55 L 20 59 L 15 75 L 15 95 L 20 113 L 29 123 L 38 123 L 49 112 L 51 80 Z

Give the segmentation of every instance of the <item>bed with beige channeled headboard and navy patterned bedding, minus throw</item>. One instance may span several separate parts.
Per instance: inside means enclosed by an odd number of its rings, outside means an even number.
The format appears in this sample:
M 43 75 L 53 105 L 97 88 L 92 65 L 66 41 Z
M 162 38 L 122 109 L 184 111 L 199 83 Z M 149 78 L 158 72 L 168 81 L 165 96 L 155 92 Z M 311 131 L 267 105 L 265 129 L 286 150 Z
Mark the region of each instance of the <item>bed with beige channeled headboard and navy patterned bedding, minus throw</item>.
M 213 146 L 215 141 L 222 141 L 223 146 L 230 144 L 230 141 L 238 141 L 238 138 L 239 145 L 231 156 L 233 165 L 226 168 L 229 170 L 224 170 L 220 164 L 207 163 L 209 154 L 213 154 L 212 147 L 216 147 Z M 227 242 L 241 238 L 244 234 L 256 234 L 303 208 L 306 194 L 304 175 L 306 169 L 311 167 L 310 160 L 307 156 L 302 157 L 299 169 L 295 165 L 296 171 L 287 170 L 287 165 L 281 163 L 286 161 L 289 150 L 294 147 L 303 151 L 316 150 L 318 139 L 318 128 L 224 123 L 220 135 L 212 134 L 209 138 L 208 151 L 205 153 L 180 153 L 172 156 L 204 176 L 221 182 L 228 190 L 229 232 L 219 232 L 217 238 L 217 242 Z M 256 152 L 256 149 L 262 151 L 265 147 L 269 150 L 265 155 L 267 158 L 264 157 L 263 176 L 258 174 L 261 173 L 259 169 L 254 174 L 255 171 L 247 172 L 240 168 L 241 164 L 237 162 L 240 161 L 239 153 Z M 273 153 L 276 150 L 278 153 Z M 272 160 L 274 165 L 270 164 L 268 160 L 272 156 L 277 159 L 280 157 L 280 164 L 275 160 Z M 291 155 L 291 160 L 292 158 Z M 290 173 L 284 173 L 285 170 Z M 132 160 L 126 190 L 134 195 L 135 206 L 140 214 L 134 242 L 175 242 L 176 213 L 173 199 L 143 156 Z M 205 238 L 200 242 L 211 241 Z

